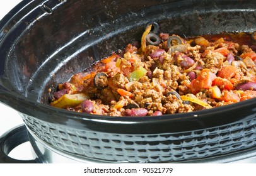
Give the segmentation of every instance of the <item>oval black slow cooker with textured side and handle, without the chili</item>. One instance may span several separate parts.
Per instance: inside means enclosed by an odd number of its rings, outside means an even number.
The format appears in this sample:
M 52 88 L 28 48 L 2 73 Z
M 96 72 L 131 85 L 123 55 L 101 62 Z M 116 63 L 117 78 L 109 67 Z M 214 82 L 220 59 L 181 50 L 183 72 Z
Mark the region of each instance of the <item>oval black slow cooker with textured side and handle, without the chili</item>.
M 57 109 L 48 91 L 140 38 L 149 22 L 181 36 L 253 32 L 255 9 L 248 0 L 21 1 L 0 22 L 0 101 L 24 122 L 1 136 L 1 162 L 255 162 L 255 99 L 121 118 Z M 25 141 L 35 159 L 8 157 Z

